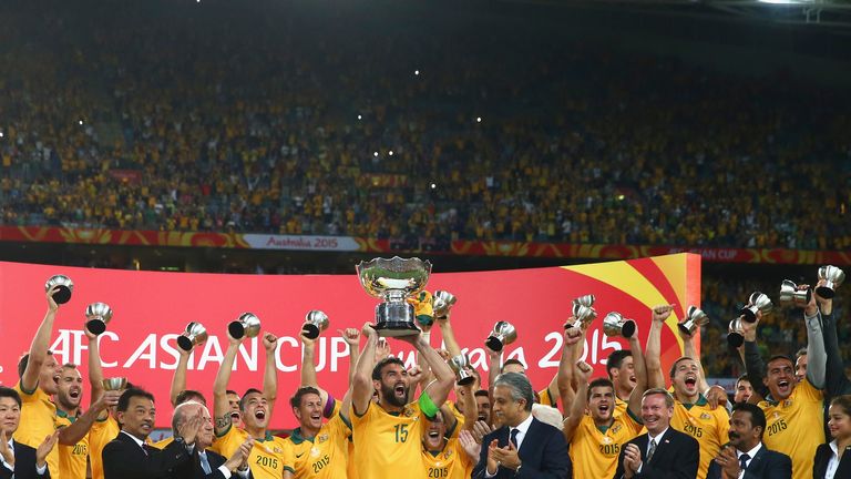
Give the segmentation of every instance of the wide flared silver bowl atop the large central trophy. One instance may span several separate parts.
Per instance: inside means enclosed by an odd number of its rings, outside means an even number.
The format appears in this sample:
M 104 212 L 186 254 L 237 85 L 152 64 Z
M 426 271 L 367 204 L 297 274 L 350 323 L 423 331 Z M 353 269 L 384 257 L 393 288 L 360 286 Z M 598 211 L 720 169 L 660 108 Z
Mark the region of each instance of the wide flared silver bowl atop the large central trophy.
M 413 295 L 426 287 L 431 274 L 431 262 L 420 258 L 375 258 L 357 266 L 360 285 L 373 297 L 383 298 L 389 291 Z

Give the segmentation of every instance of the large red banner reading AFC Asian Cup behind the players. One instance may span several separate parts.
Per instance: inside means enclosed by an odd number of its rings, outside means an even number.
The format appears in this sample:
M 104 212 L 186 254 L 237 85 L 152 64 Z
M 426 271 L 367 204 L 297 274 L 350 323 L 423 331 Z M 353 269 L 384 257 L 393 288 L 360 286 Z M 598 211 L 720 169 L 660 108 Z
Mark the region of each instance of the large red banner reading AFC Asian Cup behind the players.
M 305 314 L 321 309 L 330 327 L 317 344 L 316 364 L 320 385 L 341 398 L 348 384 L 347 345 L 337 330 L 360 328 L 371 322 L 378 299 L 368 296 L 356 275 L 215 275 L 89 269 L 17 263 L 0 263 L 0 381 L 17 383 L 17 363 L 27 353 L 39 327 L 47 299 L 44 282 L 64 274 L 74 282 L 71 300 L 60 306 L 51 350 L 60 363 L 81 365 L 86 377 L 88 339 L 83 334 L 85 306 L 109 304 L 114 316 L 100 337 L 104 376 L 125 376 L 150 389 L 157 398 L 157 426 L 167 427 L 171 408 L 168 387 L 177 364 L 175 339 L 189 322 L 201 322 L 209 333 L 189 360 L 187 387 L 212 396 L 211 385 L 227 348 L 227 324 L 252 312 L 264 330 L 278 335 L 275 351 L 278 369 L 278 408 L 273 427 L 291 427 L 295 418 L 287 399 L 299 384 L 301 346 L 298 333 Z M 556 373 L 562 351 L 563 324 L 571 300 L 594 294 L 599 317 L 587 333 L 585 360 L 596 376 L 605 375 L 605 358 L 626 345 L 622 338 L 603 335 L 602 318 L 612 310 L 638 323 L 645 340 L 650 308 L 673 304 L 675 314 L 663 333 L 663 364 L 667 368 L 681 351 L 677 318 L 688 305 L 699 305 L 700 257 L 678 254 L 628 262 L 517 271 L 433 274 L 429 291 L 445 289 L 459 299 L 451 322 L 461 347 L 483 377 L 488 373 L 484 339 L 498 320 L 516 326 L 517 340 L 505 348 L 504 358 L 529 366 L 529 376 L 543 389 Z M 676 317 L 675 317 L 676 316 Z M 413 365 L 412 350 L 390 339 L 392 353 Z M 432 345 L 440 347 L 440 332 L 432 330 Z M 259 338 L 240 347 L 230 389 L 260 387 L 265 351 Z M 88 386 L 85 388 L 88 391 Z M 89 404 L 84 393 L 83 405 Z

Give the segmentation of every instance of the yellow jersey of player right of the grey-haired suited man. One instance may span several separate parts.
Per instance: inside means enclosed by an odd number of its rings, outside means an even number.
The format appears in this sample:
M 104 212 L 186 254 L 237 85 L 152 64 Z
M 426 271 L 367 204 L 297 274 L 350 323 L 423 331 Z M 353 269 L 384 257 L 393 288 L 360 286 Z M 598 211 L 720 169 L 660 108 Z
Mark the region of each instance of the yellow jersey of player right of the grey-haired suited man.
M 571 440 L 570 456 L 575 479 L 611 478 L 617 470 L 621 449 L 638 436 L 643 426 L 629 412 L 601 429 L 591 416 L 583 416 Z

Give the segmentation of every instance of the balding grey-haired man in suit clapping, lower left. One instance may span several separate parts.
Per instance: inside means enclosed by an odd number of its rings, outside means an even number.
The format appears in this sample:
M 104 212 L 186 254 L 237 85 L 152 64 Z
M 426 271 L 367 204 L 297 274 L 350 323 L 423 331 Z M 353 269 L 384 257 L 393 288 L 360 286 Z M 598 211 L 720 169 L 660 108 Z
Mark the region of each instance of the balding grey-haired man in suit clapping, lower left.
M 174 469 L 172 477 L 174 479 L 229 479 L 230 477 L 248 479 L 250 471 L 246 461 L 252 452 L 254 439 L 248 438 L 229 459 L 225 460 L 216 452 L 207 450 L 213 445 L 213 419 L 209 410 L 201 402 L 187 401 L 174 409 L 172 431 L 175 437 L 180 435 L 183 425 L 194 417 L 202 418 L 201 429 L 195 438 L 195 450 L 188 461 Z

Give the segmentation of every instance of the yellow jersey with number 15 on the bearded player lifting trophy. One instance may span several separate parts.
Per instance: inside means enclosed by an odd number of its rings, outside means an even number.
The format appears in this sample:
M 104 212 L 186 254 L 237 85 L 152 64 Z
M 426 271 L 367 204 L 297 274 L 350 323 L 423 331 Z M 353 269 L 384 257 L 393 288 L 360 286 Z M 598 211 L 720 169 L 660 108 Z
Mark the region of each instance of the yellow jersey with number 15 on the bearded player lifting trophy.
M 400 414 L 390 414 L 369 402 L 363 416 L 351 408 L 351 426 L 358 476 L 369 479 L 427 479 L 422 461 L 426 415 L 411 402 Z

